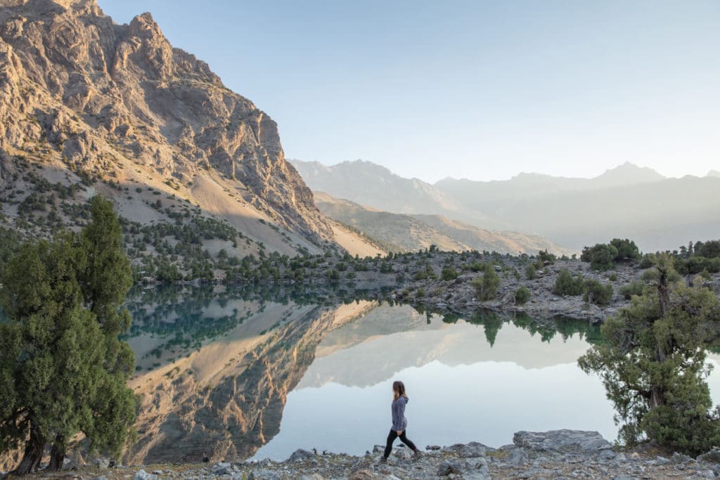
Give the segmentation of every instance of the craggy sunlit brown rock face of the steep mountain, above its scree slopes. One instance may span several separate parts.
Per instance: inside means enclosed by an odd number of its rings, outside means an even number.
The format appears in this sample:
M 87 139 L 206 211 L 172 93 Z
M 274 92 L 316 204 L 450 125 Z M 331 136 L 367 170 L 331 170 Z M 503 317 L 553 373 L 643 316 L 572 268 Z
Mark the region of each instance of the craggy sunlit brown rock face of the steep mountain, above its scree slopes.
M 95 0 L 2 0 L 0 150 L 98 173 L 125 157 L 182 186 L 209 168 L 279 225 L 332 238 L 276 123 L 149 13 L 117 25 Z

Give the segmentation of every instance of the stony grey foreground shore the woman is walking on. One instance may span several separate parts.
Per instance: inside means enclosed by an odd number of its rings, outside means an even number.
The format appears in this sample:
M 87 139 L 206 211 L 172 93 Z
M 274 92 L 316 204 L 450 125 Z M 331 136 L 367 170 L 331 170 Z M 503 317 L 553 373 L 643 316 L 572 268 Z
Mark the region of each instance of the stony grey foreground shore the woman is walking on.
M 713 479 L 720 476 L 720 450 L 698 459 L 673 453 L 660 456 L 650 448 L 620 451 L 597 432 L 554 430 L 518 432 L 512 445 L 490 448 L 482 443 L 449 447 L 428 445 L 414 457 L 405 447 L 379 463 L 382 447 L 365 456 L 297 450 L 287 461 L 221 462 L 211 465 L 156 465 L 109 468 L 107 460 L 35 478 L 72 479 Z

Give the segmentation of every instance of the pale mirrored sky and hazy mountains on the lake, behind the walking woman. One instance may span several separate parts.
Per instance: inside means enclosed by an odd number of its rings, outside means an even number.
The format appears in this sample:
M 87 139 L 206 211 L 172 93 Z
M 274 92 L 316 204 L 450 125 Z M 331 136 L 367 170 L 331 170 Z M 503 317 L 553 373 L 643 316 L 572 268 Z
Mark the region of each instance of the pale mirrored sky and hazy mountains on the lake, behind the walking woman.
M 418 321 L 419 320 L 419 321 Z M 383 332 L 388 325 L 398 332 Z M 410 307 L 379 307 L 331 332 L 287 397 L 282 429 L 256 458 L 287 458 L 299 446 L 364 453 L 390 430 L 392 381 L 408 388 L 408 436 L 418 445 L 512 443 L 518 430 L 575 428 L 614 438 L 613 408 L 595 377 L 577 368 L 580 333 L 541 335 L 504 324 L 454 325 Z

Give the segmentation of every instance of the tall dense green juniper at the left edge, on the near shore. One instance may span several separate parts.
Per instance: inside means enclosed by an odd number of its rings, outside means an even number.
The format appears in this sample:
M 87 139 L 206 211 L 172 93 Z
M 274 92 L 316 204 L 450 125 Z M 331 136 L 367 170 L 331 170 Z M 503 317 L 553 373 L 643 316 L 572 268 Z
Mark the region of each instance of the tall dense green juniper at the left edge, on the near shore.
M 3 272 L 0 451 L 25 441 L 19 474 L 37 470 L 48 443 L 48 468 L 59 469 L 79 432 L 91 448 L 118 454 L 135 420 L 126 386 L 134 356 L 118 338 L 130 325 L 120 309 L 130 267 L 112 205 L 91 202 L 80 235 L 25 243 Z

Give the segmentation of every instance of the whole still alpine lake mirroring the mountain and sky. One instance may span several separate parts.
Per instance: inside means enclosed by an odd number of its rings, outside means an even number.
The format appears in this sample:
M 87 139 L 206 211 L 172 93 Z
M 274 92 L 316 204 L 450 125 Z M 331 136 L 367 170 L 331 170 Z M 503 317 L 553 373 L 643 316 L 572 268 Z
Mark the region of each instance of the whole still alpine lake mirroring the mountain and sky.
M 577 358 L 600 328 L 478 312 L 460 318 L 309 287 L 148 286 L 127 307 L 140 396 L 128 463 L 284 460 L 297 448 L 364 454 L 391 425 L 392 381 L 420 448 L 519 430 L 617 436 L 613 407 Z M 720 356 L 711 353 L 717 365 Z M 720 400 L 720 371 L 708 379 Z

